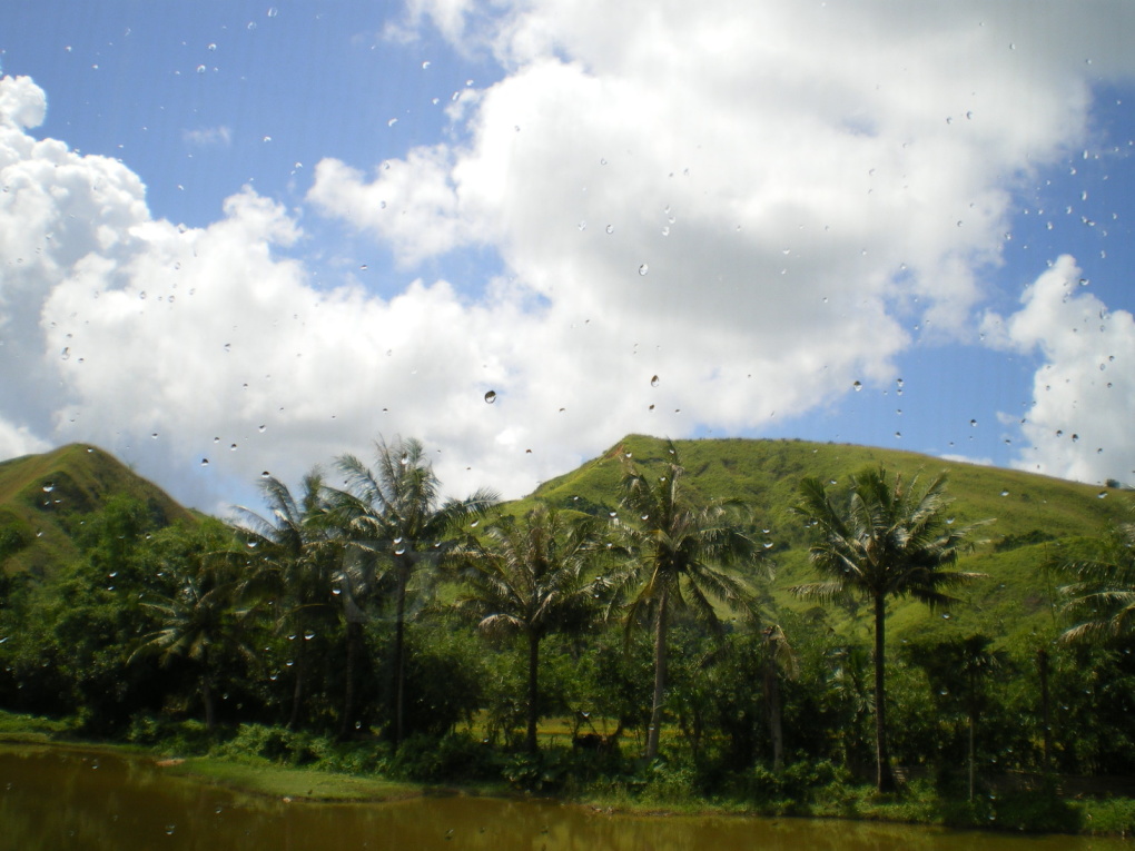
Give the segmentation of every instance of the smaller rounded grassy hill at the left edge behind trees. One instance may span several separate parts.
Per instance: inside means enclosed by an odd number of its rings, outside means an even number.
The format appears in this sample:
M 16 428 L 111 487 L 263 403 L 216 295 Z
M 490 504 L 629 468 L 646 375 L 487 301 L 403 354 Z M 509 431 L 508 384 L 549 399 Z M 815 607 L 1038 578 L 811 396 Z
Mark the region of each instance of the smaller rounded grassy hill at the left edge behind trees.
M 78 517 L 110 496 L 146 506 L 158 525 L 193 514 L 102 449 L 72 444 L 0 462 L 0 562 L 8 572 L 50 571 L 77 555 Z

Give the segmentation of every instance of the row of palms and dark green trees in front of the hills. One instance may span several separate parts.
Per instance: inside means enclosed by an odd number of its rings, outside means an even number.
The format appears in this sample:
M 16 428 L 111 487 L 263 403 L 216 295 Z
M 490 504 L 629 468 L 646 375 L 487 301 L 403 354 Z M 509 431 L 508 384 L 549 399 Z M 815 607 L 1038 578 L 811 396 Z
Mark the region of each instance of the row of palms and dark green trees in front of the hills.
M 338 458 L 338 487 L 266 477 L 263 507 L 232 524 L 159 530 L 112 498 L 76 525 L 78 562 L 6 580 L 0 705 L 110 738 L 199 717 L 395 753 L 476 730 L 470 751 L 531 758 L 562 718 L 563 742 L 684 760 L 706 791 L 797 762 L 884 792 L 920 767 L 970 798 L 980 773 L 1135 768 L 1135 525 L 1037 566 L 1067 599 L 1043 634 L 893 648 L 890 604 L 955 605 L 981 579 L 958 565 L 982 524 L 953 523 L 944 475 L 805 479 L 815 580 L 791 590 L 818 605 L 777 607 L 746 505 L 696 499 L 673 445 L 623 465 L 617 511 L 595 514 L 443 498 L 414 439 Z

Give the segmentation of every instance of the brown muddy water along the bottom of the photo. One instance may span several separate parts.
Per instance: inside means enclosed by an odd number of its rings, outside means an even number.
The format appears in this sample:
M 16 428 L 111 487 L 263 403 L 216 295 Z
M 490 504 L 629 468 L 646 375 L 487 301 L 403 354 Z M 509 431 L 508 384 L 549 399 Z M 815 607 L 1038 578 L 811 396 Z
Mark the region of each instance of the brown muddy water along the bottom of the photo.
M 612 816 L 484 798 L 287 803 L 170 776 L 151 760 L 0 747 L 0 849 L 15 851 L 1113 851 L 1121 840 L 818 819 Z

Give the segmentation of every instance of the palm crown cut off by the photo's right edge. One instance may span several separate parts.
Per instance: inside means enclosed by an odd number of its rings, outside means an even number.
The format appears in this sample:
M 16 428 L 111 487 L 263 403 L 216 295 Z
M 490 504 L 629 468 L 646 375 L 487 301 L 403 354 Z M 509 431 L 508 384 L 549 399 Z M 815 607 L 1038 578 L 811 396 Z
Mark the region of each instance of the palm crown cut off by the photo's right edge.
M 1135 503 L 1130 506 L 1135 512 Z M 1061 570 L 1076 581 L 1060 589 L 1066 610 L 1082 618 L 1061 635 L 1065 642 L 1109 639 L 1135 632 L 1135 522 L 1120 523 L 1099 558 L 1071 562 Z

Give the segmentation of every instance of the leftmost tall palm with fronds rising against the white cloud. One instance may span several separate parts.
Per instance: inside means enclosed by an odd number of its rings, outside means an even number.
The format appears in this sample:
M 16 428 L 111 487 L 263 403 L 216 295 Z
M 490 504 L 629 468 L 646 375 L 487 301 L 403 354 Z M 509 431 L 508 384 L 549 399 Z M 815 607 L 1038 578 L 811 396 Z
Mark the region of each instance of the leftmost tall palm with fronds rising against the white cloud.
M 241 520 L 244 553 L 253 571 L 243 582 L 243 591 L 276 607 L 277 626 L 286 629 L 296 641 L 293 667 L 295 688 L 288 726 L 300 723 L 306 689 L 308 654 L 304 648 L 313 634 L 311 621 L 317 614 L 333 610 L 333 573 L 339 562 L 337 530 L 326 502 L 322 474 L 313 469 L 303 478 L 303 491 L 296 498 L 276 477 L 260 482 L 270 519 L 243 506 L 236 507 Z

